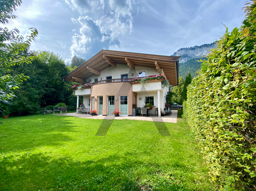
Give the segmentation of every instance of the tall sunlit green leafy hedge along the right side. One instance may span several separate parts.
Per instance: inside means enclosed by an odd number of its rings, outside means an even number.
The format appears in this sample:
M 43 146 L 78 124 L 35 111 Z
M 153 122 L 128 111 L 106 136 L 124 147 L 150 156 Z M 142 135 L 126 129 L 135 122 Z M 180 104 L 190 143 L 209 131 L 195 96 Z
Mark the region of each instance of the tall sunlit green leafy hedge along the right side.
M 188 87 L 187 121 L 219 190 L 256 190 L 256 0 Z

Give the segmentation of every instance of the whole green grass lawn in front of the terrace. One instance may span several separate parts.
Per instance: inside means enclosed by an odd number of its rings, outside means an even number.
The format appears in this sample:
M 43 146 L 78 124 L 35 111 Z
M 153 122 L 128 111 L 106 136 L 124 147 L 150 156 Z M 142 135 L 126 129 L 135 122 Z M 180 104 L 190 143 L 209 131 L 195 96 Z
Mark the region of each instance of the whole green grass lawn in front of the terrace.
M 180 113 L 179 113 L 180 116 Z M 1 120 L 1 191 L 207 191 L 208 169 L 187 123 L 34 115 Z M 161 136 L 156 125 L 171 136 Z

